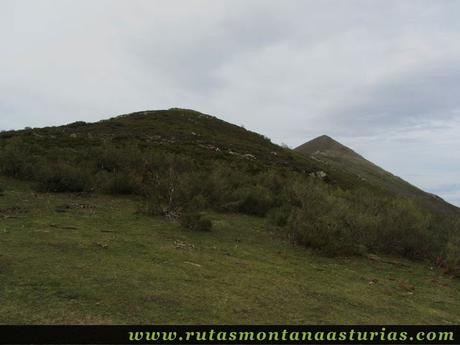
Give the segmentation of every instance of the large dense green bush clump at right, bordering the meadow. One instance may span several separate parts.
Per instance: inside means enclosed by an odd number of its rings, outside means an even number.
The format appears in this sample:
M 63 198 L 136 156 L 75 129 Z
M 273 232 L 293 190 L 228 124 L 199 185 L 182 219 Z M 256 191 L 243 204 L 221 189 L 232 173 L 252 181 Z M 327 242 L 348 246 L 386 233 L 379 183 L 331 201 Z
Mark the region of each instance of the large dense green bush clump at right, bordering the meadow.
M 308 181 L 296 193 L 292 198 L 301 206 L 288 221 L 296 243 L 327 255 L 373 251 L 422 258 L 440 250 L 431 216 L 412 201 Z

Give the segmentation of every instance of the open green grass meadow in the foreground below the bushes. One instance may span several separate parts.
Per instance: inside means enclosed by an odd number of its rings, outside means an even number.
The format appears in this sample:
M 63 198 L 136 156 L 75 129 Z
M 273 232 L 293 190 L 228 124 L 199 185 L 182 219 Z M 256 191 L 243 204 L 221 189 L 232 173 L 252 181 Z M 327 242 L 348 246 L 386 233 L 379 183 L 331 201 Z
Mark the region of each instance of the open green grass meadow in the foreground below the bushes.
M 460 323 L 460 281 L 425 264 L 320 257 L 262 218 L 213 213 L 197 233 L 134 197 L 0 184 L 2 324 Z

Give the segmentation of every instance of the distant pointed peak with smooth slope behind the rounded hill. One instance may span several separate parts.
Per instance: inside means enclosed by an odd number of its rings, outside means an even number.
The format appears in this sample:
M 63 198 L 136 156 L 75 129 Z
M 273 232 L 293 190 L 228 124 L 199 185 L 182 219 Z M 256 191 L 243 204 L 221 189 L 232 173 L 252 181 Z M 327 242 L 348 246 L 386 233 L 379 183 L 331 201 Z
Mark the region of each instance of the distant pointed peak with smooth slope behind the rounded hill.
M 415 198 L 438 211 L 458 214 L 457 207 L 391 174 L 327 135 L 317 137 L 300 145 L 295 148 L 295 151 L 328 166 L 329 169 L 352 174 L 372 186 L 397 195 Z

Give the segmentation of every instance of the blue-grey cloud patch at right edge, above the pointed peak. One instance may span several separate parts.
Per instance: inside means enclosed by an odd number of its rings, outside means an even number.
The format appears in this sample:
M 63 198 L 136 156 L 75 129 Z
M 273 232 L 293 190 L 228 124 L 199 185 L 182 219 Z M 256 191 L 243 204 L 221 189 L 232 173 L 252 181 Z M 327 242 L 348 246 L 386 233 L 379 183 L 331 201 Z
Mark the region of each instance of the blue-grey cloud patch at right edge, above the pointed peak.
M 366 92 L 365 101 L 330 116 L 361 134 L 460 118 L 460 66 L 440 66 L 403 77 L 377 85 Z

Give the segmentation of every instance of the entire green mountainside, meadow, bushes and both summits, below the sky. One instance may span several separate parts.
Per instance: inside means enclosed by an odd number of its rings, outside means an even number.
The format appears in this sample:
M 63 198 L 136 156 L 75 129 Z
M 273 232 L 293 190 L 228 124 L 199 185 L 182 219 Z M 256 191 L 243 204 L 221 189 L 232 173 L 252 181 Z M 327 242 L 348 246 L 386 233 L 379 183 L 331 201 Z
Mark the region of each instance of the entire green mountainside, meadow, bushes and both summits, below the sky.
M 175 108 L 0 133 L 0 319 L 458 323 L 458 210 L 309 146 Z

